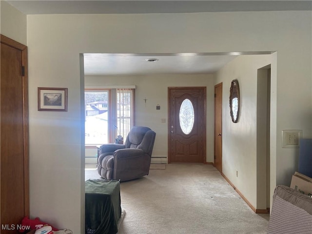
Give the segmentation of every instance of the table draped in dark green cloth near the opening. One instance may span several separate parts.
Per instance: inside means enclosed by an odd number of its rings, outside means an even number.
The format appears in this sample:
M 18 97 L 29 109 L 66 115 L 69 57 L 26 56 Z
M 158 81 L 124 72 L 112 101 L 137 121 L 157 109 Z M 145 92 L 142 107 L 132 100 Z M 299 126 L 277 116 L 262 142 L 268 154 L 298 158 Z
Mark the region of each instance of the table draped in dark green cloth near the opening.
M 85 181 L 86 234 L 116 234 L 121 216 L 119 180 Z

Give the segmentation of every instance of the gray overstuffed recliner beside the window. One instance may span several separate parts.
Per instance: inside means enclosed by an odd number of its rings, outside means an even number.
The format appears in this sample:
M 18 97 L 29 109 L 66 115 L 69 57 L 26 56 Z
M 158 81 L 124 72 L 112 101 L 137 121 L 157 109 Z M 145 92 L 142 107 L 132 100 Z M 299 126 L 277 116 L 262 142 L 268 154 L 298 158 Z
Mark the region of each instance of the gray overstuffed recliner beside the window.
M 149 174 L 156 133 L 133 127 L 125 144 L 104 144 L 98 150 L 98 174 L 105 179 L 126 181 Z

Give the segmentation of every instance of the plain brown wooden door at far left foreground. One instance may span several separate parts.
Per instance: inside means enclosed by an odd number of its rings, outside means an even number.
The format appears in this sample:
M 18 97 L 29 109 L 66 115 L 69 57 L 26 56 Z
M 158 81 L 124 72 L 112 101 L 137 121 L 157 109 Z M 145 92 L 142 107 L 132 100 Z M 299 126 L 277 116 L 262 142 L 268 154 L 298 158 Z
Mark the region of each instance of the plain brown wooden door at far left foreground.
M 1 234 L 29 216 L 27 47 L 1 35 Z

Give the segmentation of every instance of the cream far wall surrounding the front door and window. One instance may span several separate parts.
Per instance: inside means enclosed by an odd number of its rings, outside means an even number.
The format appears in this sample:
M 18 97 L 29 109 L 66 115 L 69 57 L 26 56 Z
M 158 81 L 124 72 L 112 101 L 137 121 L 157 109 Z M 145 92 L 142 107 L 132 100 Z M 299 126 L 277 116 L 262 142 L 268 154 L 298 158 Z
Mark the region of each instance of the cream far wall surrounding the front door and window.
M 168 156 L 168 87 L 207 87 L 207 162 L 214 162 L 214 78 L 213 75 L 85 76 L 86 85 L 136 85 L 136 125 L 156 132 L 153 157 Z M 147 99 L 146 105 L 143 99 Z M 160 110 L 156 110 L 156 105 Z M 166 123 L 161 123 L 165 118 Z

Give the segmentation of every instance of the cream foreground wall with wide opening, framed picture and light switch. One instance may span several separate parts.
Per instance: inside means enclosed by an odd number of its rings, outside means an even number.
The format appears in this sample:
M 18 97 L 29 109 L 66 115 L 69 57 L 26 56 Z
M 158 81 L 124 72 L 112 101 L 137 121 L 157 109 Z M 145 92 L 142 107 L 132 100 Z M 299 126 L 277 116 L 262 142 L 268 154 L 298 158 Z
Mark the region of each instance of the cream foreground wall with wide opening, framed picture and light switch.
M 302 129 L 304 137 L 312 135 L 311 41 L 311 11 L 27 16 L 31 215 L 76 234 L 83 230 L 79 53 L 278 51 L 271 177 L 288 184 L 295 152 L 281 148 L 280 132 Z M 68 112 L 38 112 L 37 87 L 67 87 Z M 244 195 L 253 195 L 250 180 L 238 183 Z

